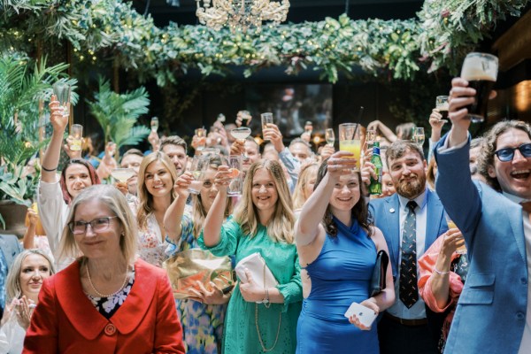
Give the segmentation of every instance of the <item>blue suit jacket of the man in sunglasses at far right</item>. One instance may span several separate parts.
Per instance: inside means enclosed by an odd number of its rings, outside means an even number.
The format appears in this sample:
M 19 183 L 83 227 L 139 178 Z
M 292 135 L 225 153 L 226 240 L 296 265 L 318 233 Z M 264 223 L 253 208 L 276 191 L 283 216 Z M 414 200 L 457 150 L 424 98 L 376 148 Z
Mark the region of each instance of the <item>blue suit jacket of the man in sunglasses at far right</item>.
M 469 144 L 438 153 L 444 140 L 435 146 L 436 190 L 465 236 L 470 262 L 444 352 L 518 353 L 527 309 L 522 208 L 472 181 Z

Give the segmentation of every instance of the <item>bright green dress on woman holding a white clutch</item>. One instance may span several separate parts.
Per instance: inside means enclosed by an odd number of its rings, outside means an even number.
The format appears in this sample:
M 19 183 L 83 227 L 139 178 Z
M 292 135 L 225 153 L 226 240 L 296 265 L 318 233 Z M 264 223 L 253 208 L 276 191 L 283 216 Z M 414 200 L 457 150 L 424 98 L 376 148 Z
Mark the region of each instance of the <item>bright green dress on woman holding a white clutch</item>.
M 266 308 L 258 304 L 258 327 L 267 353 L 295 353 L 296 322 L 301 312 L 303 287 L 295 243 L 273 242 L 266 227 L 259 226 L 254 237 L 244 235 L 240 225 L 229 219 L 222 227 L 220 242 L 215 247 L 204 245 L 203 233 L 198 239 L 204 250 L 216 256 L 235 255 L 236 264 L 242 258 L 259 252 L 279 281 L 277 289 L 284 296 L 284 304 L 271 304 Z M 279 321 L 279 316 L 281 319 Z M 227 354 L 264 353 L 258 339 L 256 304 L 246 302 L 239 287 L 236 287 L 228 303 L 223 339 L 223 352 Z M 280 326 L 280 330 L 279 330 Z

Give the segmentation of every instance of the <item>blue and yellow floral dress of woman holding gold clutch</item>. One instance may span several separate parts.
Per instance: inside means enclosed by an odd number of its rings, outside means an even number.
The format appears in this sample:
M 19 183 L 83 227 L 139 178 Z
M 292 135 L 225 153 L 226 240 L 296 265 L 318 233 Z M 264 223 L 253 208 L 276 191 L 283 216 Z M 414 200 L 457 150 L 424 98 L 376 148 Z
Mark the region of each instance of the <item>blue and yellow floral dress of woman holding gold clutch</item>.
M 181 221 L 181 241 L 170 242 L 167 249 L 169 255 L 183 250 L 198 249 L 194 237 L 194 222 L 188 215 L 183 215 Z M 182 340 L 189 354 L 218 354 L 221 353 L 221 339 L 223 335 L 223 321 L 227 304 L 201 304 L 194 300 L 175 300 L 177 312 L 181 319 Z

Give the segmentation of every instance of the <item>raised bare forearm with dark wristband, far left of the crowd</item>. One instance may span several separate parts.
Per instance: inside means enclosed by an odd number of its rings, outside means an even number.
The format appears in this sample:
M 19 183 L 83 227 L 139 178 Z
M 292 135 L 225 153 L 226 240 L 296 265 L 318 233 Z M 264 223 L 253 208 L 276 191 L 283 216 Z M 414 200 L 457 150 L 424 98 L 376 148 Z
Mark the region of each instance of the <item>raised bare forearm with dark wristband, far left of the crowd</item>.
M 55 95 L 51 96 L 50 102 L 50 123 L 53 127 L 50 145 L 44 153 L 42 158 L 42 181 L 48 183 L 55 183 L 57 181 L 57 170 L 59 165 L 59 157 L 61 154 L 61 146 L 63 144 L 63 134 L 65 127 L 68 124 L 68 117 L 63 116 L 62 109 L 59 107 L 59 102 Z

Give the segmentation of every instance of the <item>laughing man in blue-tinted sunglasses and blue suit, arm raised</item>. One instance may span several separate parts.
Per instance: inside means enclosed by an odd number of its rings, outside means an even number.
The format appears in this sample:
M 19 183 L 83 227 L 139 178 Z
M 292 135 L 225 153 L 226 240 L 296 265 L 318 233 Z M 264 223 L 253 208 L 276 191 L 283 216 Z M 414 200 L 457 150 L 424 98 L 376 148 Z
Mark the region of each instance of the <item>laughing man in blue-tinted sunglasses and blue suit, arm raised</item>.
M 528 353 L 531 348 L 531 127 L 504 120 L 485 136 L 479 173 L 468 168 L 475 90 L 456 78 L 450 91 L 452 127 L 435 146 L 438 195 L 465 236 L 470 267 L 446 342 L 448 353 Z

